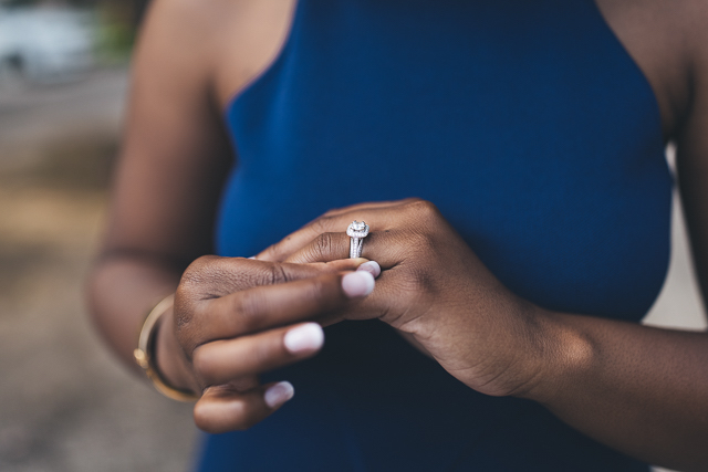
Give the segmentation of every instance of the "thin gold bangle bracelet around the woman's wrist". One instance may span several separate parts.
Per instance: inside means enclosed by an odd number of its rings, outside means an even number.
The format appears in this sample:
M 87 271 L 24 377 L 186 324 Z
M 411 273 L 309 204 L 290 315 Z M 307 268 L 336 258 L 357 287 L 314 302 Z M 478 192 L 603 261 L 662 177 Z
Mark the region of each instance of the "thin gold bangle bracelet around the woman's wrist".
M 162 302 L 150 310 L 145 318 L 145 323 L 143 323 L 140 336 L 137 340 L 137 349 L 133 352 L 133 357 L 135 357 L 135 361 L 143 368 L 145 375 L 150 379 L 157 391 L 173 400 L 194 401 L 199 398 L 197 395 L 167 384 L 155 365 L 155 326 L 157 326 L 159 317 L 169 310 L 174 302 L 175 295 L 171 294 L 163 298 Z

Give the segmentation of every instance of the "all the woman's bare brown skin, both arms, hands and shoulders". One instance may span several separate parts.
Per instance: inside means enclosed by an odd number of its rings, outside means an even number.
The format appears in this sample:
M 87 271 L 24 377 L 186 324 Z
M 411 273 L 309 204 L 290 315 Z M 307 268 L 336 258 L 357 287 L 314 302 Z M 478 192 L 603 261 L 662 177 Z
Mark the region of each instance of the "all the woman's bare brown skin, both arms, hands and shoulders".
M 708 3 L 598 7 L 652 85 L 665 139 L 677 144 L 706 296 Z M 336 210 L 256 261 L 200 259 L 212 252 L 215 208 L 232 164 L 221 111 L 277 55 L 292 8 L 291 0 L 156 0 L 152 8 L 135 59 L 110 229 L 90 285 L 96 324 L 118 356 L 133 365 L 145 313 L 176 291 L 158 326 L 158 367 L 173 385 L 202 394 L 195 407 L 200 428 L 244 429 L 279 407 L 264 402 L 270 385 L 258 374 L 317 350 L 283 348 L 289 331 L 313 319 L 378 317 L 470 388 L 539 401 L 647 462 L 708 470 L 706 334 L 554 313 L 520 300 L 431 203 Z M 383 268 L 363 298 L 342 286 L 364 262 L 341 261 L 348 248 L 342 229 L 354 219 L 372 227 L 363 255 Z M 414 224 L 425 228 L 415 238 L 426 252 L 410 252 L 403 229 Z

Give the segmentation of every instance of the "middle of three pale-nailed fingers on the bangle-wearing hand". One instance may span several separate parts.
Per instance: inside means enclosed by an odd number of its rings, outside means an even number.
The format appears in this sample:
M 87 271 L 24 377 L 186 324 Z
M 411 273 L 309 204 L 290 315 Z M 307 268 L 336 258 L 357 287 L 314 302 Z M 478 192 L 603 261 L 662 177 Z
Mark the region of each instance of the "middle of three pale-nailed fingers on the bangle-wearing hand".
M 311 357 L 323 344 L 322 327 L 304 323 L 205 344 L 195 349 L 192 363 L 201 385 L 222 385 Z

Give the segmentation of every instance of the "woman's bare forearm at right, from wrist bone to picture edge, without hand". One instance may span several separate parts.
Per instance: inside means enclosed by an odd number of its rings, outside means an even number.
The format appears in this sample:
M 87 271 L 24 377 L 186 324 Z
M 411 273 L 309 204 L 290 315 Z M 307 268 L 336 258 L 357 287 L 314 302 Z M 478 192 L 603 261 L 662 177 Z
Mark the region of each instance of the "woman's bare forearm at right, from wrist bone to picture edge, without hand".
M 543 311 L 539 316 L 542 367 L 528 398 L 629 455 L 708 470 L 706 334 Z

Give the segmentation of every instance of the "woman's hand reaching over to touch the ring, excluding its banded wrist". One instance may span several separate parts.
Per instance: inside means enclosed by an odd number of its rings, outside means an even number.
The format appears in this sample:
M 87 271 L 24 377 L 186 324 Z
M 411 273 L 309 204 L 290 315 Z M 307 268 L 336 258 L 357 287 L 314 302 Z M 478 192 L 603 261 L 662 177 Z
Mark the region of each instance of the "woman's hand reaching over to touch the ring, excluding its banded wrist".
M 201 395 L 197 427 L 211 433 L 248 429 L 288 401 L 292 385 L 260 385 L 259 374 L 320 350 L 320 325 L 339 321 L 327 314 L 373 290 L 369 273 L 352 272 L 365 261 L 290 264 L 209 255 L 191 263 L 174 308 L 163 315 L 156 357 L 170 385 Z

